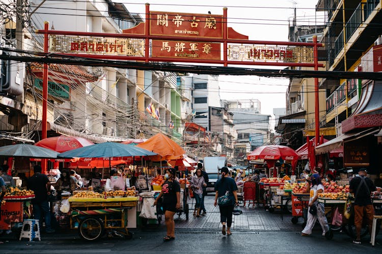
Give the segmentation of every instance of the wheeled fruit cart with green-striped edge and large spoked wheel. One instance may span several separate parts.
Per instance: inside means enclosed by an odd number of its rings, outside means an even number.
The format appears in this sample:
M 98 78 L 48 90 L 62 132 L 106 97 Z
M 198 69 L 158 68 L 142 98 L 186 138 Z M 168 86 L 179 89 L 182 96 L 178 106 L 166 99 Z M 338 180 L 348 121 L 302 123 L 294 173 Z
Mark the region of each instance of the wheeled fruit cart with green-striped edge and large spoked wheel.
M 139 197 L 70 197 L 70 228 L 85 240 L 96 240 L 105 233 L 131 239 L 127 230 L 127 211 L 137 206 Z

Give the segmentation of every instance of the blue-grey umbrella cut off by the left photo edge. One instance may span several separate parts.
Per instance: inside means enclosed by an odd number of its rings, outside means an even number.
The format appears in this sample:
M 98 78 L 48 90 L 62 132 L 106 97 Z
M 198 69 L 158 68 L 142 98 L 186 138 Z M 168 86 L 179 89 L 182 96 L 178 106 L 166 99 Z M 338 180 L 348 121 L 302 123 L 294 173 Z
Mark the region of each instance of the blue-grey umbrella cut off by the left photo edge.
M 44 147 L 30 144 L 6 145 L 0 147 L 0 156 L 30 157 L 30 158 L 57 158 L 59 153 Z

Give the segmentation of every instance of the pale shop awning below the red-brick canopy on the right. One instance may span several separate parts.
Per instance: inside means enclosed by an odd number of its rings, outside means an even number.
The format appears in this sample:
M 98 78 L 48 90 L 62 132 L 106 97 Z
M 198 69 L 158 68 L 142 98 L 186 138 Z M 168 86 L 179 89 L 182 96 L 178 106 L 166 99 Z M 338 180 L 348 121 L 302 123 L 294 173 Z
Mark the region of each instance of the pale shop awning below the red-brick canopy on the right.
M 338 136 L 337 138 L 334 138 L 332 140 L 329 140 L 326 143 L 323 143 L 322 145 L 317 146 L 315 148 L 316 154 L 328 153 L 332 150 L 340 148 L 343 145 L 343 142 L 357 140 L 365 136 L 368 136 L 370 134 L 376 133 L 377 131 L 378 129 L 376 128 L 370 128 L 362 132 L 342 134 L 341 136 Z

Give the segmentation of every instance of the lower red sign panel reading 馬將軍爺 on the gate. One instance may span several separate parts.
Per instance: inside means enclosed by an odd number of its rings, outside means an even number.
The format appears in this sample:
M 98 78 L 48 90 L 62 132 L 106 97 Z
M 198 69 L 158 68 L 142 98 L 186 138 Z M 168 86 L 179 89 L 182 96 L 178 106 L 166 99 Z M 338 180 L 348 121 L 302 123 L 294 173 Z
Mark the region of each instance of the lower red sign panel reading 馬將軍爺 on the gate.
M 221 59 L 220 43 L 152 41 L 153 57 Z

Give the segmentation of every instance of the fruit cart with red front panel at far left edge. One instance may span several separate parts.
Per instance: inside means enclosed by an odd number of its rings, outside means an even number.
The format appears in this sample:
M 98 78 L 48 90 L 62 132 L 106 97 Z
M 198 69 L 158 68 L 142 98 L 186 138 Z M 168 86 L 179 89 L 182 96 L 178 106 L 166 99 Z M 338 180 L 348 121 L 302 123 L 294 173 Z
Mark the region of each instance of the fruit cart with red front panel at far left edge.
M 11 230 L 13 224 L 22 223 L 30 217 L 30 202 L 35 198 L 33 190 L 7 187 L 6 195 L 0 207 L 0 230 Z

